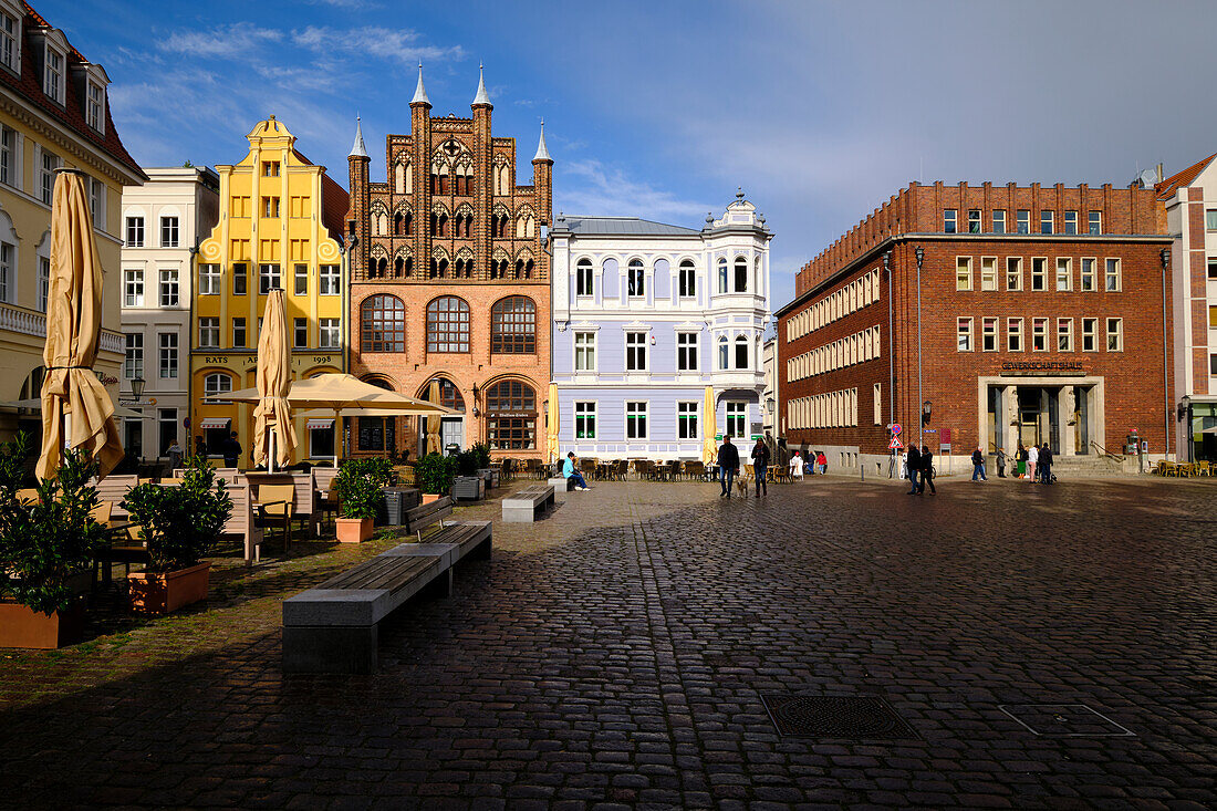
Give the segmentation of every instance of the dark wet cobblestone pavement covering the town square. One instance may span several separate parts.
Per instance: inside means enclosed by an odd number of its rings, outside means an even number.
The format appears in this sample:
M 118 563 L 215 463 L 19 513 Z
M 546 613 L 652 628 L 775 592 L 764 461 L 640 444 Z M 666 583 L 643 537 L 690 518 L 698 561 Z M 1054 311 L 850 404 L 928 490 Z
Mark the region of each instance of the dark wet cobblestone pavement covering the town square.
M 717 494 L 606 483 L 495 521 L 492 561 L 382 630 L 375 676 L 284 677 L 279 600 L 383 538 L 10 653 L 0 804 L 1217 807 L 1212 485 Z M 879 697 L 913 736 L 781 737 L 783 694 Z M 1002 709 L 1042 704 L 1132 734 Z

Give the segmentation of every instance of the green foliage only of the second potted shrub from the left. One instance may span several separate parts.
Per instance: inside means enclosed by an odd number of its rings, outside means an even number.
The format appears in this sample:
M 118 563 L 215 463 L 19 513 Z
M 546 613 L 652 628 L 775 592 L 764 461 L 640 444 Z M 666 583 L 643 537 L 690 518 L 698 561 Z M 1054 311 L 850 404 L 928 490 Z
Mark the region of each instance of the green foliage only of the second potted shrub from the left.
M 203 457 L 186 459 L 181 485 L 146 483 L 127 492 L 127 511 L 140 525 L 140 539 L 148 547 L 151 570 L 189 569 L 202 561 L 232 513 L 224 482 Z

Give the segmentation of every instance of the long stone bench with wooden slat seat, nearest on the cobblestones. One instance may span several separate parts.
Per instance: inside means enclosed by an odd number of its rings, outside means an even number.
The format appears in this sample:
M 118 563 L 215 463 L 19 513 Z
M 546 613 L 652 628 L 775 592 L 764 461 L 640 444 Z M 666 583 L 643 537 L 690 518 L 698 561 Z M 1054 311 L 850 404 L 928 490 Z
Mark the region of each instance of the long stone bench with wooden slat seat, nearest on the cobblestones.
M 284 600 L 285 673 L 371 673 L 380 622 L 422 591 L 452 594 L 453 569 L 490 555 L 489 521 L 455 521 Z

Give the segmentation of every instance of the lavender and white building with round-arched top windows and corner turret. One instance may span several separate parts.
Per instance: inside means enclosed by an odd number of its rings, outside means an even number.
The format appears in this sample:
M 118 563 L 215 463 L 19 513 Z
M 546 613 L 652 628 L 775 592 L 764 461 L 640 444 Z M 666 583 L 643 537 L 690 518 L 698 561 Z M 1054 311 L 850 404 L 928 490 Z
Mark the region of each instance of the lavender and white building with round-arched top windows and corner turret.
M 703 459 L 759 435 L 770 239 L 742 192 L 701 230 L 560 216 L 551 453 Z

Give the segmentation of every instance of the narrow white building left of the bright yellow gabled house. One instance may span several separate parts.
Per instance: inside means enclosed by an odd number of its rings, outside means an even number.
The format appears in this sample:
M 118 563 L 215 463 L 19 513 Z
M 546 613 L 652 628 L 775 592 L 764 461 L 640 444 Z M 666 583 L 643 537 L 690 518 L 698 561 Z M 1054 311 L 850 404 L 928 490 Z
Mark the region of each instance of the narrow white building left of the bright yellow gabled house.
M 124 419 L 123 447 L 146 460 L 189 448 L 190 307 L 195 253 L 219 217 L 219 177 L 207 167 L 145 169 L 142 186 L 123 191 L 122 300 L 127 357 L 119 404 L 142 413 Z M 136 397 L 133 380 L 144 381 Z

